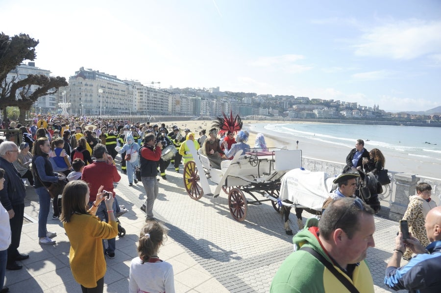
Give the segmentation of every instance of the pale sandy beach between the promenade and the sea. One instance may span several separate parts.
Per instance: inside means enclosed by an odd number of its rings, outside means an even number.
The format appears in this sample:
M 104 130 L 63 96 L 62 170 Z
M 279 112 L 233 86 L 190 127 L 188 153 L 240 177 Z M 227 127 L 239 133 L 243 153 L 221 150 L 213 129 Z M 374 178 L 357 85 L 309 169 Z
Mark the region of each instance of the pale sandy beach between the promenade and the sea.
M 249 132 L 248 144 L 250 147 L 254 146 L 257 132 L 253 131 L 253 124 L 256 123 L 279 123 L 277 121 L 256 121 L 256 120 L 242 120 L 244 122 L 243 130 Z M 174 122 L 162 122 L 169 126 L 169 129 L 173 125 L 177 125 L 181 130 L 189 128 L 195 132 L 196 138 L 198 138 L 199 132 L 205 129 L 207 132 L 212 128 L 213 121 L 174 121 Z M 303 122 L 284 122 L 284 123 L 303 123 Z M 308 122 L 311 123 L 311 122 Z M 287 134 L 290 135 L 290 134 Z M 355 141 L 360 137 L 354 137 L 354 146 L 345 147 L 338 145 L 327 145 L 325 143 L 318 143 L 311 139 L 301 138 L 299 139 L 298 149 L 302 150 L 302 156 L 308 158 L 317 158 L 321 160 L 327 160 L 332 162 L 345 163 L 346 156 L 349 154 L 351 148 L 355 147 Z M 295 141 L 295 137 L 290 136 L 291 141 Z M 265 140 L 268 147 L 273 148 L 288 148 L 290 150 L 296 149 L 295 143 L 289 142 L 284 137 L 280 136 L 280 133 L 274 135 L 265 134 Z M 369 145 L 369 142 L 365 142 L 365 148 L 370 150 L 375 146 Z M 440 178 L 439 164 L 437 162 L 425 161 L 419 158 L 402 157 L 397 156 L 392 151 L 382 150 L 386 158 L 386 169 L 394 172 L 411 173 L 420 176 Z

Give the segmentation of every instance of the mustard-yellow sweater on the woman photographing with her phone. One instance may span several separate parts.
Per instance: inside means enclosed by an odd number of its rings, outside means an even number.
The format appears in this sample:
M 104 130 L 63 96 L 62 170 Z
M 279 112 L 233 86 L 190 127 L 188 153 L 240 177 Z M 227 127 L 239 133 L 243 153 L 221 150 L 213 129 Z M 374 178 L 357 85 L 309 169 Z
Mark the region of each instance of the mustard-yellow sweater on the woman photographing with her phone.
M 117 222 L 107 224 L 95 216 L 74 214 L 69 223 L 64 223 L 64 229 L 71 243 L 69 263 L 73 278 L 86 288 L 97 287 L 97 281 L 106 273 L 101 240 L 118 235 Z

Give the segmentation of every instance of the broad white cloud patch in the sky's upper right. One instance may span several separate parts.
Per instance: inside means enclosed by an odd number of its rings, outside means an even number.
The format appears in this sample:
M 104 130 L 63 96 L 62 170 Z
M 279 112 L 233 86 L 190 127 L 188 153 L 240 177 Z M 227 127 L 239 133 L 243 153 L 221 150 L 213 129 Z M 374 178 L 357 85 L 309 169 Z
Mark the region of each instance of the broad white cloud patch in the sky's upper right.
M 441 53 L 441 22 L 408 20 L 368 29 L 354 45 L 355 55 L 411 60 Z

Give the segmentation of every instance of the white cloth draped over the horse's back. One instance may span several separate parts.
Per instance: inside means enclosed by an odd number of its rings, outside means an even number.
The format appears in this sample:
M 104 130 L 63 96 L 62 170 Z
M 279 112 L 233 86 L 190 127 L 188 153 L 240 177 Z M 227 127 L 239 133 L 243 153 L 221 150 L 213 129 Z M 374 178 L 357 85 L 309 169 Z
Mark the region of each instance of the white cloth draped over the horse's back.
M 279 199 L 321 211 L 333 179 L 325 172 L 293 169 L 282 178 Z

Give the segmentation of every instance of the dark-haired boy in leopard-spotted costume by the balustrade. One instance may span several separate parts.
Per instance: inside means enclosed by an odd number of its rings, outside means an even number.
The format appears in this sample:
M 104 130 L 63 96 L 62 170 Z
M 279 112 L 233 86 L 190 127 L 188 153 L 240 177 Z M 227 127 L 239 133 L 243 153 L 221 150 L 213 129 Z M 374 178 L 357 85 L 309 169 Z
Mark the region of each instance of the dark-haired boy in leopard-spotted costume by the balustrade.
M 427 213 L 437 206 L 437 203 L 430 198 L 432 195 L 432 186 L 429 184 L 425 182 L 418 183 L 416 191 L 417 195 L 409 197 L 409 205 L 404 213 L 403 220 L 407 220 L 409 232 L 412 233 L 412 236 L 417 238 L 422 246 L 426 247 L 430 242 L 424 227 L 424 219 Z M 403 257 L 404 259 L 410 259 L 412 257 L 412 251 L 406 248 Z

